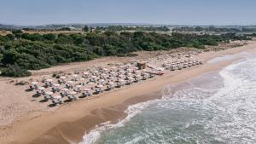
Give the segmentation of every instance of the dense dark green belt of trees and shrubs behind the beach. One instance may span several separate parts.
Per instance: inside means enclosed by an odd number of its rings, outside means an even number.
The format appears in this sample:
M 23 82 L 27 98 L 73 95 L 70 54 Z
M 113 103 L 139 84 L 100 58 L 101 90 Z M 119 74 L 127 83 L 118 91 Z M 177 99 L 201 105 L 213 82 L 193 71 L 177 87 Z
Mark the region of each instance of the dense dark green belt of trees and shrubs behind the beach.
M 97 57 L 131 55 L 139 50 L 168 50 L 178 47 L 204 49 L 230 40 L 249 40 L 235 33 L 196 35 L 156 32 L 88 32 L 87 34 L 29 34 L 14 31 L 0 36 L 0 69 L 3 76 L 24 77 L 61 63 L 92 60 Z

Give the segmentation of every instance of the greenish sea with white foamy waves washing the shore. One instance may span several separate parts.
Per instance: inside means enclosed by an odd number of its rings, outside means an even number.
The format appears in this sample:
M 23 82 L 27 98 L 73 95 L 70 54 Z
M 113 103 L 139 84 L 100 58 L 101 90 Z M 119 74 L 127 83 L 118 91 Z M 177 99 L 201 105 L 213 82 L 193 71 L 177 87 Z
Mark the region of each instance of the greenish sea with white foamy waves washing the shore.
M 98 125 L 81 143 L 256 143 L 255 55 L 218 72 L 167 85 L 161 95 L 161 100 L 129 107 L 127 118 L 118 124 Z

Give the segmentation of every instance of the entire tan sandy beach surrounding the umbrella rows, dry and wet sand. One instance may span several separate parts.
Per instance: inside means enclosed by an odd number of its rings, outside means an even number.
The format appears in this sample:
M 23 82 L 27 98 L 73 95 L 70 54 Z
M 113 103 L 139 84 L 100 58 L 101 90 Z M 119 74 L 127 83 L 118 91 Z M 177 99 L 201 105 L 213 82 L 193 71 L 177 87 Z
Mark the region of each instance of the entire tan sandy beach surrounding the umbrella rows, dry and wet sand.
M 175 72 L 165 72 L 161 77 L 149 79 L 143 83 L 132 84 L 112 92 L 94 95 L 84 101 L 75 101 L 61 107 L 49 108 L 33 102 L 31 95 L 24 92 L 27 85 L 16 86 L 15 81 L 24 78 L 0 78 L 0 141 L 1 143 L 77 143 L 82 141 L 85 132 L 94 129 L 96 124 L 107 121 L 116 123 L 125 118 L 125 109 L 132 104 L 160 98 L 160 90 L 167 84 L 177 84 L 201 74 L 228 66 L 242 55 L 231 60 L 207 63 L 220 55 L 234 55 L 241 52 L 253 52 L 256 41 L 247 45 L 220 51 L 203 52 L 197 57 L 205 60 L 203 65 Z M 161 55 L 161 52 L 157 55 Z M 148 53 L 139 57 L 144 59 L 155 54 Z M 125 62 L 136 58 L 102 58 L 90 62 L 81 62 L 33 72 L 31 78 L 42 78 L 57 71 L 81 70 L 82 66 L 93 66 L 95 62 L 104 65 L 105 61 Z M 26 78 L 27 79 L 27 78 Z

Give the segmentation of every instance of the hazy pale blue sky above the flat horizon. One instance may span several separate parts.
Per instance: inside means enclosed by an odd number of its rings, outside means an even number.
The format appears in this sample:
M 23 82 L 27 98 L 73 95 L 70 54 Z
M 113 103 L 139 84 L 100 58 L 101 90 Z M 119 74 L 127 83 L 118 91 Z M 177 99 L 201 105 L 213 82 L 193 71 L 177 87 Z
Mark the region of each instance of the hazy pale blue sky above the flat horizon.
M 0 0 L 0 23 L 256 25 L 256 0 Z

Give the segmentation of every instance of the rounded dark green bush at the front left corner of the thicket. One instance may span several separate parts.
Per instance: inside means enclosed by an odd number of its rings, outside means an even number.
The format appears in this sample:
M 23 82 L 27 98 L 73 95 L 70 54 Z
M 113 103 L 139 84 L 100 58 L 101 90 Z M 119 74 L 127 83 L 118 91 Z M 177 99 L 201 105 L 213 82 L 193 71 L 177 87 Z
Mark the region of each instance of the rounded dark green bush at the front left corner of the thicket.
M 15 65 L 9 65 L 6 68 L 3 68 L 1 75 L 20 78 L 20 77 L 30 76 L 31 72 L 28 72 L 26 69 L 21 68 L 20 66 L 15 64 Z

